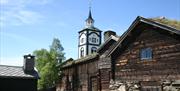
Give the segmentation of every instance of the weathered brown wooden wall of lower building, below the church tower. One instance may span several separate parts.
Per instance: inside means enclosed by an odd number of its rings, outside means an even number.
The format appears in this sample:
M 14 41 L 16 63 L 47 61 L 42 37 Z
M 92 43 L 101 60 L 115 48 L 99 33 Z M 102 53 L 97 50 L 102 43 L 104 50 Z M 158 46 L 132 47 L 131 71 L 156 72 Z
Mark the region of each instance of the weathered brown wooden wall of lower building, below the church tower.
M 61 87 L 58 87 L 61 88 L 60 91 L 90 91 L 90 78 L 96 76 L 98 72 L 97 61 L 98 59 L 93 59 L 63 69 L 64 77 L 62 78 L 62 84 L 59 85 Z

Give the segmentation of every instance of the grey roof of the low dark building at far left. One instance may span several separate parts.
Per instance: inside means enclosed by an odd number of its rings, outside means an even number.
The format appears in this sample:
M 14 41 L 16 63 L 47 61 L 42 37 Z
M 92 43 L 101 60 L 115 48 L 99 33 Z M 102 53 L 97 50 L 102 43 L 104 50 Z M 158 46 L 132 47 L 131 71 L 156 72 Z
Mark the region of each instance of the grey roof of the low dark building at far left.
M 37 71 L 25 73 L 23 67 L 0 65 L 0 78 L 33 78 L 38 79 Z

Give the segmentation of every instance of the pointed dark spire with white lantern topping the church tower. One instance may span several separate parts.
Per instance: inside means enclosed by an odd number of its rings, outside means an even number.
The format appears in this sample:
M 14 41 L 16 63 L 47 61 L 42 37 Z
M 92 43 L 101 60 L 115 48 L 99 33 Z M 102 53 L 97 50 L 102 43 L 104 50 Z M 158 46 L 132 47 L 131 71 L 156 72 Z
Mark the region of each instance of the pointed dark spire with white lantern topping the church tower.
M 91 14 L 91 5 L 89 5 L 89 16 L 86 19 L 86 27 L 88 28 L 94 27 L 94 19 L 92 18 L 92 14 Z

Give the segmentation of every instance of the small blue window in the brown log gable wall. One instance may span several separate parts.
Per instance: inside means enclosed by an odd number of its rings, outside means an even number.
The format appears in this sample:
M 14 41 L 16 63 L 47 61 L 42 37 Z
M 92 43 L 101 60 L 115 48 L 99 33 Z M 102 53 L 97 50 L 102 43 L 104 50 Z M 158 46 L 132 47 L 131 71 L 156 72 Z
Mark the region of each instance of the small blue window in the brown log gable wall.
M 141 49 L 140 57 L 141 57 L 141 60 L 152 59 L 152 49 L 151 48 Z

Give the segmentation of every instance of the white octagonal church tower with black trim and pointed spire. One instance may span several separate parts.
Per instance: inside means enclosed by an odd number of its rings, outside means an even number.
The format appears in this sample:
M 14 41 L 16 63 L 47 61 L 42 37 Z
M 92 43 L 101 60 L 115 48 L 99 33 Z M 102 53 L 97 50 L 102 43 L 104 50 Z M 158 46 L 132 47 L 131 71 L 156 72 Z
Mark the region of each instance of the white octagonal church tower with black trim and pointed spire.
M 101 30 L 94 27 L 94 19 L 90 8 L 85 28 L 79 31 L 78 58 L 96 52 L 101 45 L 101 32 Z

